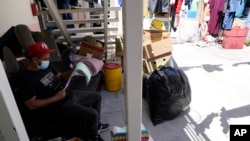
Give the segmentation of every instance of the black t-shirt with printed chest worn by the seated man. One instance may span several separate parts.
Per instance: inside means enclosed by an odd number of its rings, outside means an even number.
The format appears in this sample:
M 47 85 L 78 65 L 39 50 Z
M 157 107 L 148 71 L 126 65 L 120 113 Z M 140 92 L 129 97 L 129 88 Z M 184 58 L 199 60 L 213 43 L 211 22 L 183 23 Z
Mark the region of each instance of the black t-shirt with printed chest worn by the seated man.
M 18 98 L 19 107 L 24 120 L 34 120 L 42 117 L 43 115 L 50 114 L 51 112 L 60 108 L 60 102 L 49 104 L 43 108 L 29 110 L 25 106 L 25 101 L 36 96 L 37 99 L 46 99 L 52 97 L 57 91 L 63 88 L 63 83 L 55 79 L 56 72 L 51 68 L 39 71 L 25 70 L 20 75 L 20 87 Z

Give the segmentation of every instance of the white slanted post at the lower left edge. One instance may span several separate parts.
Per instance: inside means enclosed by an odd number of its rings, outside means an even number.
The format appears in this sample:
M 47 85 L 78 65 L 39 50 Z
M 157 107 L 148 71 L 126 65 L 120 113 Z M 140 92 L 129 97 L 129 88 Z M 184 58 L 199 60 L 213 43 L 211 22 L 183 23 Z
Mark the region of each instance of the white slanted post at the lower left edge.
M 28 135 L 1 62 L 0 80 L 0 137 L 4 141 L 28 141 Z

